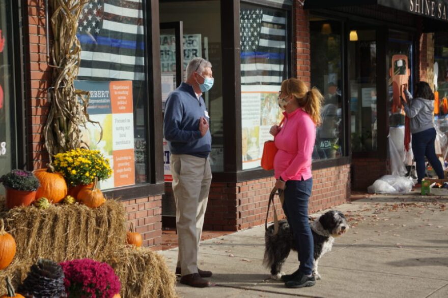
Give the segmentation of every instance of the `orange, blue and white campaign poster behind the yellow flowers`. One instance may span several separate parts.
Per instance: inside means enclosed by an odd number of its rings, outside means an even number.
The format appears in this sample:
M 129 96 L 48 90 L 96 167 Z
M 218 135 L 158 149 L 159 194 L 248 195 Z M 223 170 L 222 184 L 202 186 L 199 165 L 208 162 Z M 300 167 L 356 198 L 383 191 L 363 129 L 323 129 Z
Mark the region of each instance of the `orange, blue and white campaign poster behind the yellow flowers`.
M 87 111 L 99 122 L 81 126 L 81 141 L 109 159 L 112 176 L 101 189 L 135 184 L 134 113 L 132 81 L 75 81 L 75 88 L 90 92 Z M 101 136 L 102 129 L 102 138 Z

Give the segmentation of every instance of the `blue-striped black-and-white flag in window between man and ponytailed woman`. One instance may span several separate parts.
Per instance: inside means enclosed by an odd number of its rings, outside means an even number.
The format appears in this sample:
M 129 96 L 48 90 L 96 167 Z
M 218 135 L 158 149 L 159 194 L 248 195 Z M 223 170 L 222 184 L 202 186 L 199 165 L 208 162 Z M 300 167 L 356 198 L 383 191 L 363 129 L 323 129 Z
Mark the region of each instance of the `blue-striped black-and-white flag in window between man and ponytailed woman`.
M 286 78 L 286 15 L 240 11 L 241 84 L 279 85 Z

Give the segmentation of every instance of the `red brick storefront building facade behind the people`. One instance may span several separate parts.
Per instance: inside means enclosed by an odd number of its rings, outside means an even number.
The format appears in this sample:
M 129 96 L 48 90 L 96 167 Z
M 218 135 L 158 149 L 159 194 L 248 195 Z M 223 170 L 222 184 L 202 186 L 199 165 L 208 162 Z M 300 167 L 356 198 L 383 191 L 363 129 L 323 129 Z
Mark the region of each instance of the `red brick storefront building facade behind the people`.
M 174 224 L 163 104 L 193 57 L 210 60 L 215 77 L 205 94 L 213 182 L 204 228 L 233 231 L 264 222 L 275 181 L 272 172 L 259 167 L 260 158 L 270 125 L 281 119 L 279 86 L 291 76 L 325 95 L 310 210 L 342 204 L 351 189 L 365 190 L 388 173 L 387 136 L 403 120 L 392 107 L 394 82 L 403 76 L 409 86 L 432 82 L 436 61 L 436 76 L 443 80 L 448 2 L 334 3 L 88 3 L 77 28 L 82 52 L 75 86 L 91 91 L 90 113 L 104 127 L 116 127 L 107 121 L 130 124 L 120 126 L 127 133 L 118 137 L 109 131 L 110 138 L 122 138 L 120 144 L 128 147 L 110 147 L 113 141 L 104 137 L 98 143 L 95 128 L 86 138 L 111 157 L 117 177 L 131 173 L 101 187 L 126 207 L 146 246 L 160 248 L 162 225 Z M 42 128 L 55 66 L 49 51 L 54 37 L 51 28 L 47 32 L 51 12 L 44 0 L 0 0 L 0 174 L 44 168 L 48 162 Z M 131 86 L 126 115 L 93 104 L 114 101 L 107 95 L 111 86 Z M 114 155 L 120 150 L 130 160 L 122 169 L 123 157 Z

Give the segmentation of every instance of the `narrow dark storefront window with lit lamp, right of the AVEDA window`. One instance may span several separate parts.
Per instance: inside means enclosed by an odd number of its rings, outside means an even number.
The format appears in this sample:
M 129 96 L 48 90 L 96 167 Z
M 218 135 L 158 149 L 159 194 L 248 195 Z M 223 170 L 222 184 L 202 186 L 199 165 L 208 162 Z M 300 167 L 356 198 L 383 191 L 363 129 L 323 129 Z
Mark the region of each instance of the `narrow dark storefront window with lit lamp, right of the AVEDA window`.
M 352 30 L 348 44 L 352 152 L 373 152 L 377 136 L 375 30 Z

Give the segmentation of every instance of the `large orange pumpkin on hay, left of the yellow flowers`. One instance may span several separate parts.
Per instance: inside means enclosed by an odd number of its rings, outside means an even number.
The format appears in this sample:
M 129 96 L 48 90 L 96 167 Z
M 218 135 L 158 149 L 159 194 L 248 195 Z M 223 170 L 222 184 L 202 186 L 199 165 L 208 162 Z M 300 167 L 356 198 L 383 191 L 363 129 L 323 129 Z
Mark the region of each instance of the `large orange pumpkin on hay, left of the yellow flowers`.
M 53 204 L 60 202 L 67 195 L 67 183 L 59 173 L 50 173 L 47 169 L 33 172 L 40 181 L 36 197 L 46 197 Z

